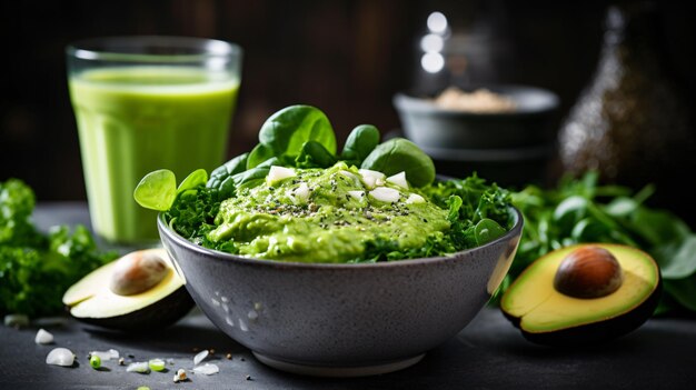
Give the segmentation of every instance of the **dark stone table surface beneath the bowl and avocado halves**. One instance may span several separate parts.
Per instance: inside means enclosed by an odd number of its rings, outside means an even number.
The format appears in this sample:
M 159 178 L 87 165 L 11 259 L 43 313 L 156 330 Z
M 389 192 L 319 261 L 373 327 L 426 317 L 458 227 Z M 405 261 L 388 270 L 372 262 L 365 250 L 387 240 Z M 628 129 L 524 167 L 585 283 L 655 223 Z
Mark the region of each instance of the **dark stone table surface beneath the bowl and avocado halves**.
M 41 227 L 88 223 L 84 203 L 39 204 Z M 51 323 L 52 322 L 52 323 Z M 42 327 L 52 346 L 34 343 Z M 408 340 L 405 340 L 408 342 Z M 76 352 L 78 364 L 46 364 L 54 347 Z M 126 372 L 115 361 L 93 370 L 92 350 L 116 349 L 131 360 L 173 359 L 169 371 Z M 190 369 L 199 349 L 215 349 L 213 376 L 189 374 L 173 383 L 173 371 Z M 227 353 L 231 359 L 227 359 Z M 459 334 L 411 368 L 392 373 L 326 379 L 289 374 L 259 363 L 242 346 L 217 330 L 198 310 L 153 334 L 125 334 L 82 326 L 69 318 L 44 320 L 24 329 L 0 326 L 0 389 L 696 389 L 696 320 L 650 319 L 612 343 L 583 349 L 551 349 L 527 342 L 497 309 L 486 308 Z

